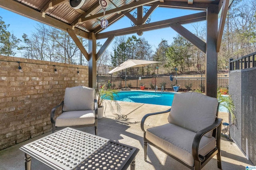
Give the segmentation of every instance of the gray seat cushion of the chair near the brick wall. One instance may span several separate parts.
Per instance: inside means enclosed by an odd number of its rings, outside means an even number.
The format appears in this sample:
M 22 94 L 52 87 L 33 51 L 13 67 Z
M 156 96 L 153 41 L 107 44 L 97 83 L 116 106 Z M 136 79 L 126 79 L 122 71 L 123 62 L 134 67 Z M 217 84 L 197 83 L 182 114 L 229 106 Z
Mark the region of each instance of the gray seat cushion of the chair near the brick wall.
M 94 124 L 94 110 L 65 111 L 56 118 L 56 127 Z

